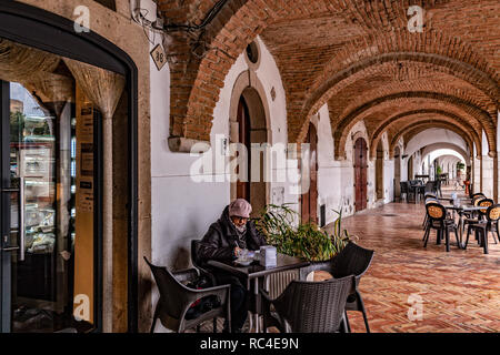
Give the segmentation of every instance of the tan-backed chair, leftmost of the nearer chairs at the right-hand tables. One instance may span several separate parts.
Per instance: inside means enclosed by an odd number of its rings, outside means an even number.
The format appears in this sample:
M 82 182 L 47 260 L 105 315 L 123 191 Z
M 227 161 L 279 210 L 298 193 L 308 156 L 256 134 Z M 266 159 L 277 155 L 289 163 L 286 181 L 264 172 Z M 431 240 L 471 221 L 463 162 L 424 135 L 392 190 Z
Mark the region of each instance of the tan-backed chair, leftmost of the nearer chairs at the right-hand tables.
M 437 202 L 429 202 L 426 204 L 426 213 L 428 215 L 429 222 L 426 227 L 426 233 L 423 234 L 423 247 L 427 247 L 429 242 L 429 235 L 431 230 L 436 230 L 437 244 L 441 244 L 442 236 L 444 234 L 447 252 L 450 251 L 450 230 L 454 231 L 454 236 L 457 239 L 457 245 L 460 248 L 461 244 L 458 237 L 458 227 L 452 219 L 448 217 L 447 209 Z

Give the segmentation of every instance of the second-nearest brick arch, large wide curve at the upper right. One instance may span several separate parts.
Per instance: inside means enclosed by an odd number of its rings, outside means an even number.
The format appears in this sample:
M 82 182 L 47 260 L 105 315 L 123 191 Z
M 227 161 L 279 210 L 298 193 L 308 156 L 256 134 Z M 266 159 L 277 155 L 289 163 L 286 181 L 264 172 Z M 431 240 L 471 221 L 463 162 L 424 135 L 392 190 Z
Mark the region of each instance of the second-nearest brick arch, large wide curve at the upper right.
M 436 30 L 418 34 L 403 30 L 384 36 L 371 33 L 346 44 L 317 75 L 299 120 L 307 121 L 330 99 L 336 85 L 357 72 L 400 61 L 429 63 L 449 70 L 456 78 L 486 93 L 491 99 L 492 111 L 499 105 L 499 74 L 471 45 Z M 303 128 L 297 132 L 298 140 L 302 138 L 302 131 Z

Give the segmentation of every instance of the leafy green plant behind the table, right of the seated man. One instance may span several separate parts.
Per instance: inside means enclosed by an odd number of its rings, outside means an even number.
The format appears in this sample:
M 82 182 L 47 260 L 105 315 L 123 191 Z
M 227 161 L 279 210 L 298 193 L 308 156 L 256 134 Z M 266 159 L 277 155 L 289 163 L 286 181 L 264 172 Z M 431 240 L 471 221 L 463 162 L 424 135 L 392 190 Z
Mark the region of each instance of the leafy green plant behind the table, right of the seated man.
M 339 253 L 350 240 L 349 233 L 341 231 L 341 212 L 332 210 L 339 216 L 333 223 L 333 234 L 329 235 L 316 223 L 296 223 L 300 220 L 299 214 L 290 205 L 266 205 L 256 220 L 258 230 L 279 253 L 312 262 L 327 261 Z

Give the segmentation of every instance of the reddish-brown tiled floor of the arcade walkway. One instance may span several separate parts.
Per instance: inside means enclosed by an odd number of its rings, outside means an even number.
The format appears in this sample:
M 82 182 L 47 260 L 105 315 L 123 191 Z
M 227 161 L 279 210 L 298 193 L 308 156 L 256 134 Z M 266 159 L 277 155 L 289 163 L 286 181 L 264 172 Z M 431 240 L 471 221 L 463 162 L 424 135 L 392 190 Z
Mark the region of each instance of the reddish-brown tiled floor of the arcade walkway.
M 432 232 L 424 248 L 423 215 L 423 204 L 390 203 L 343 220 L 376 252 L 360 284 L 371 331 L 500 332 L 500 244 L 490 236 L 488 255 L 477 243 L 447 253 Z M 364 332 L 359 312 L 349 318 L 352 332 Z

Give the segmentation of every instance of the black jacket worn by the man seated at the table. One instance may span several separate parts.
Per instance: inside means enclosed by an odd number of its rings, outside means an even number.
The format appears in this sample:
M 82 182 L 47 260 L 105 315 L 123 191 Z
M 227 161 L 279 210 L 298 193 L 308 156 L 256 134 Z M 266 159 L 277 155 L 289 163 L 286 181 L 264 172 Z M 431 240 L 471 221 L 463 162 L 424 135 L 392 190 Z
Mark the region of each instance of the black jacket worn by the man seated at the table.
M 198 257 L 203 263 L 209 260 L 236 260 L 234 247 L 240 246 L 238 241 L 238 233 L 229 219 L 229 206 L 227 206 L 220 219 L 210 225 L 201 240 Z M 267 245 L 266 237 L 257 231 L 252 221 L 247 222 L 246 241 L 247 248 L 251 251 Z

